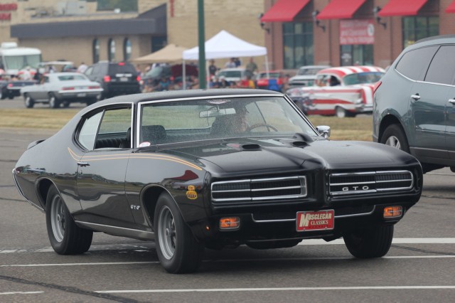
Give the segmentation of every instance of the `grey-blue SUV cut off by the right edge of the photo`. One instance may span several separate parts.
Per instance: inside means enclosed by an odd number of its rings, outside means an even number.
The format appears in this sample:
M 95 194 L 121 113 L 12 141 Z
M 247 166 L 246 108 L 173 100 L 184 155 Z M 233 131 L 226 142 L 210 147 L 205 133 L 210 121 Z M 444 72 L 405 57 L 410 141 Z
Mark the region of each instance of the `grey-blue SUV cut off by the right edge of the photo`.
M 455 36 L 407 47 L 375 90 L 373 140 L 455 171 Z

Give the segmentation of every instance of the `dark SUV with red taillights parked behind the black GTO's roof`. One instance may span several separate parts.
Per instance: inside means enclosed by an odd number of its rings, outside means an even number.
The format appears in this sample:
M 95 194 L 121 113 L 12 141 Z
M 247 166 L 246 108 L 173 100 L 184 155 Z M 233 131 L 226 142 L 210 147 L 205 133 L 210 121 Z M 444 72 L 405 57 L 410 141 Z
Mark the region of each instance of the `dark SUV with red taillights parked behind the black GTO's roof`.
M 141 78 L 131 63 L 95 63 L 85 70 L 85 75 L 101 84 L 102 99 L 141 92 L 139 88 Z

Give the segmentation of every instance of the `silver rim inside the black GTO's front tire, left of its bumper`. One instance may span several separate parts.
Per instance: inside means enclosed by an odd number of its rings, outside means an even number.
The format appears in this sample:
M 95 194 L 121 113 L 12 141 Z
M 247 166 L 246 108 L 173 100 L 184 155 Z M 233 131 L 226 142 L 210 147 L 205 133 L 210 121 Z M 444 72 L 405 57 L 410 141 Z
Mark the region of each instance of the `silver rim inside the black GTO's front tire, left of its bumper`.
M 167 206 L 161 208 L 158 218 L 158 241 L 161 252 L 167 260 L 171 260 L 176 252 L 176 224 Z

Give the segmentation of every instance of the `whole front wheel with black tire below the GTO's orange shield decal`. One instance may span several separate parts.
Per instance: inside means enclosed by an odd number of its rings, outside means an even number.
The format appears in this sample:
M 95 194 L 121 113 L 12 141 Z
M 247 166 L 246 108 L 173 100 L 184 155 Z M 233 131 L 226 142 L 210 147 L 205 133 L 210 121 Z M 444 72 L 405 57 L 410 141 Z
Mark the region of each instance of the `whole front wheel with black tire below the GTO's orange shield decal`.
M 202 261 L 204 248 L 194 238 L 180 211 L 167 193 L 156 203 L 154 215 L 156 252 L 167 272 L 195 272 Z

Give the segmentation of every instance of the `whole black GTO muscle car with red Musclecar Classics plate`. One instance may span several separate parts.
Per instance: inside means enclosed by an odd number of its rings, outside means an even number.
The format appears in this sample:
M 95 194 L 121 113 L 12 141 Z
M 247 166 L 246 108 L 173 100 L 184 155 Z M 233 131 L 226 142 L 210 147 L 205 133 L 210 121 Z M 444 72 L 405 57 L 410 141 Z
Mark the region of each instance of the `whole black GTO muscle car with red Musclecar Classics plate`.
M 419 200 L 422 168 L 399 149 L 329 134 L 279 92 L 127 95 L 31 143 L 13 174 L 63 255 L 89 250 L 95 231 L 155 240 L 174 273 L 197 270 L 204 248 L 309 238 L 382 257 Z

